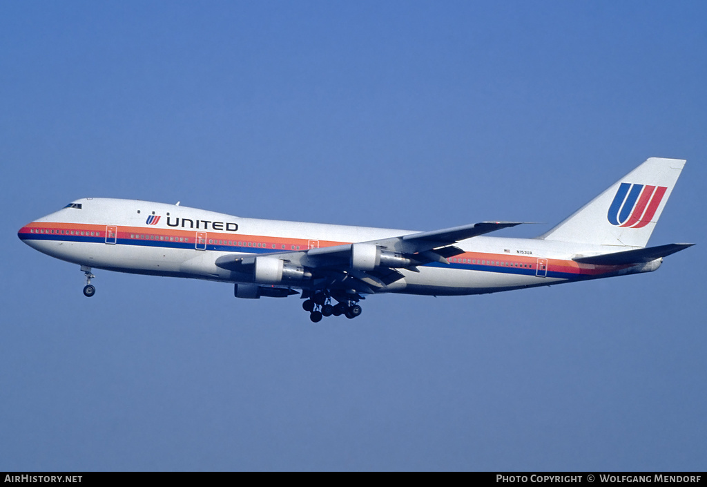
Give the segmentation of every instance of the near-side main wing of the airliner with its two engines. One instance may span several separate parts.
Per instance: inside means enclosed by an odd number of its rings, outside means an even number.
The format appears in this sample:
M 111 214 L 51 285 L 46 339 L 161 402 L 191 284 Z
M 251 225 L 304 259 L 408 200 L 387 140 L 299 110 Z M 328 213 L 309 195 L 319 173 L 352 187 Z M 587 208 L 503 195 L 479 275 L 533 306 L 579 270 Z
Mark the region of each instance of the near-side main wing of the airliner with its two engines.
M 272 252 L 257 256 L 231 254 L 216 259 L 216 265 L 238 273 L 253 274 L 255 282 L 287 284 L 283 276 L 297 275 L 314 282 L 319 280 L 320 283 L 315 286 L 347 287 L 357 292 L 372 293 L 401 279 L 403 275 L 399 269 L 419 272 L 418 265 L 431 262 L 448 264 L 449 257 L 463 252 L 454 246 L 458 241 L 515 227 L 520 223 L 481 222 L 387 239 L 310 248 L 307 251 Z

